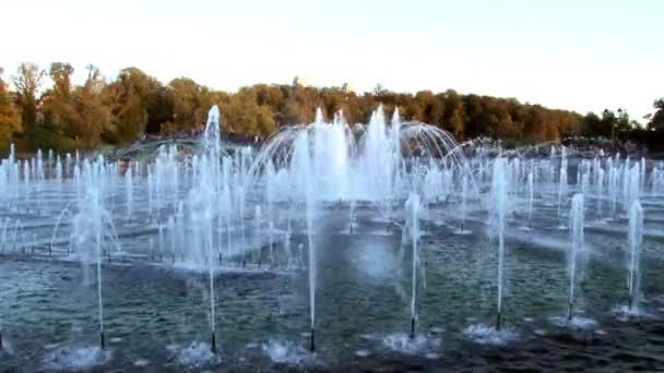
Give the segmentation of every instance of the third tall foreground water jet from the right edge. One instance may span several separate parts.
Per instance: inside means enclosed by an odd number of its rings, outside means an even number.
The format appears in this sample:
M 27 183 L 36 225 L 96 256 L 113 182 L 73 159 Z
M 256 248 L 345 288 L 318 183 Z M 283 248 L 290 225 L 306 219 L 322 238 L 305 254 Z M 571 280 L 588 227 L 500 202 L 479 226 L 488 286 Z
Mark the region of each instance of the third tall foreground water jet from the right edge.
M 491 229 L 498 234 L 498 300 L 496 329 L 500 330 L 502 322 L 502 293 L 505 272 L 505 217 L 508 208 L 508 164 L 506 158 L 496 158 L 491 178 L 490 214 Z

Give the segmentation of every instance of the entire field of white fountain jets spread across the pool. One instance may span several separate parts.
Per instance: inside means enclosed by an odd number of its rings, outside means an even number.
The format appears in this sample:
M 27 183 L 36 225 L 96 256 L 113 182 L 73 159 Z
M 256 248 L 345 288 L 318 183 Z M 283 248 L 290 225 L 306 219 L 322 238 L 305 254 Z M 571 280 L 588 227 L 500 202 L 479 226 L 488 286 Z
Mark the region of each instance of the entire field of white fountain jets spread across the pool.
M 459 338 L 448 327 L 455 330 L 470 323 L 463 335 L 479 344 L 513 340 L 506 300 L 510 320 L 513 314 L 522 321 L 515 325 L 532 324 L 534 336 L 527 340 L 540 344 L 547 338 L 538 332 L 541 310 L 562 302 L 550 296 L 538 298 L 537 304 L 529 299 L 533 291 L 556 293 L 565 267 L 570 284 L 569 309 L 559 317 L 564 325 L 588 322 L 578 315 L 581 274 L 590 279 L 583 289 L 602 294 L 583 310 L 589 316 L 603 317 L 604 306 L 624 299 L 624 276 L 606 269 L 615 268 L 615 261 L 622 263 L 606 249 L 622 234 L 629 237 L 628 306 L 661 314 L 654 296 L 651 302 L 639 302 L 639 289 L 648 289 L 649 296 L 664 291 L 652 272 L 661 254 L 656 244 L 664 214 L 664 165 L 625 155 L 584 158 L 573 146 L 554 145 L 550 156 L 542 158 L 527 148 L 455 144 L 438 128 L 402 122 L 399 110 L 391 116 L 391 121 L 386 119 L 389 116 L 378 108 L 367 124 L 349 124 L 342 113 L 327 122 L 319 110 L 312 123 L 282 127 L 258 148 L 222 142 L 220 113 L 213 108 L 200 142 L 191 147 L 159 144 L 153 155 L 127 164 L 50 152 L 17 159 L 10 149 L 0 163 L 0 345 L 9 351 L 7 338 L 20 336 L 19 348 L 15 337 L 10 340 L 15 348 L 10 353 L 31 362 L 39 357 L 26 369 L 48 370 L 51 353 L 42 357 L 39 351 L 62 344 L 59 337 L 45 337 L 54 325 L 73 324 L 73 344 L 79 334 L 90 333 L 82 317 L 70 315 L 81 310 L 71 304 L 75 294 L 49 296 L 70 293 L 68 284 L 80 272 L 69 265 L 72 261 L 83 263 L 84 272 L 95 270 L 96 276 L 90 276 L 94 311 L 86 309 L 84 315 L 94 314 L 95 330 L 88 335 L 98 334 L 104 353 L 120 350 L 117 366 L 116 361 L 100 362 L 108 370 L 131 366 L 128 356 L 135 356 L 141 366 L 152 361 L 155 370 L 161 361 L 177 364 L 169 369 L 209 369 L 221 362 L 222 347 L 224 361 L 254 369 L 262 369 L 265 359 L 301 369 L 324 360 L 336 368 L 355 341 L 361 345 L 355 353 L 359 360 L 382 357 L 386 347 L 413 360 L 437 359 L 447 353 L 435 342 L 439 335 L 450 338 L 450 346 Z M 572 195 L 568 220 L 566 206 Z M 487 216 L 488 253 L 477 249 L 475 237 L 464 234 L 469 228 L 483 230 Z M 584 238 L 585 217 L 590 233 Z M 509 229 L 513 224 L 523 229 Z M 569 239 L 556 225 L 569 225 Z M 507 243 L 514 245 L 513 256 L 511 251 L 507 256 Z M 423 244 L 431 250 L 422 250 Z M 583 273 L 591 246 L 597 253 L 593 264 L 596 260 L 601 265 Z M 547 254 L 561 250 L 565 267 L 558 255 Z M 595 281 L 595 275 L 603 280 Z M 158 286 L 143 289 L 153 282 Z M 473 290 L 475 286 L 481 290 Z M 426 301 L 418 287 L 426 288 Z M 222 290 L 224 302 L 217 303 Z M 183 301 L 174 301 L 179 299 Z M 356 306 L 348 299 L 367 301 Z M 386 337 L 394 325 L 390 323 L 404 316 L 404 310 L 394 306 L 400 301 L 411 316 L 410 333 Z M 40 308 L 54 310 L 52 321 L 44 320 Z M 158 313 L 154 320 L 159 327 L 137 322 L 143 318 L 135 310 L 143 309 Z M 301 311 L 309 314 L 309 346 L 286 340 L 301 327 Z M 476 317 L 487 311 L 497 313 L 495 325 L 477 324 Z M 26 324 L 22 314 L 37 322 Z M 173 317 L 180 314 L 187 318 Z M 347 320 L 354 323 L 344 329 Z M 434 320 L 444 325 L 425 329 Z M 604 327 L 610 334 L 621 326 Z M 142 328 L 140 338 L 150 340 L 139 344 L 144 351 L 132 344 L 139 338 L 134 335 L 126 344 L 118 340 L 130 328 Z M 321 328 L 329 336 L 324 348 Z M 163 330 L 167 335 L 162 336 Z M 640 337 L 650 333 L 630 332 Z M 152 335 L 159 336 L 150 339 Z M 175 345 L 201 335 L 204 342 Z M 176 347 L 161 344 L 168 339 Z M 238 340 L 248 345 L 238 346 Z M 81 353 L 72 352 L 72 359 Z

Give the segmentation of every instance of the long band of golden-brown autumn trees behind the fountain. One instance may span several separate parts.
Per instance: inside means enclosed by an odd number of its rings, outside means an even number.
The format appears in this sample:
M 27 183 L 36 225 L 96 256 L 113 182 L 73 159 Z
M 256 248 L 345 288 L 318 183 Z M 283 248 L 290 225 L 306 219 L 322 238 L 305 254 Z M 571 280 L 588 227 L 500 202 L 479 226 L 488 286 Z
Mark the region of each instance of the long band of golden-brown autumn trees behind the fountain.
M 220 106 L 226 131 L 261 137 L 282 125 L 311 122 L 318 107 L 328 118 L 341 109 L 349 123 L 366 122 L 379 104 L 388 115 L 399 107 L 405 120 L 440 127 L 456 139 L 541 142 L 568 134 L 616 136 L 637 127 L 621 110 L 580 116 L 451 89 L 413 95 L 379 85 L 358 95 L 343 87 L 257 84 L 229 94 L 188 77 L 163 84 L 135 68 L 120 71 L 114 80 L 93 65 L 86 71 L 85 82 L 74 85 L 69 63 L 54 62 L 46 70 L 23 63 L 11 76 L 10 91 L 0 70 L 0 152 L 11 141 L 22 149 L 72 151 L 129 143 L 145 134 L 190 133 L 202 129 L 212 105 Z M 47 76 L 50 87 L 43 86 Z M 651 127 L 664 130 L 664 100 L 657 105 Z

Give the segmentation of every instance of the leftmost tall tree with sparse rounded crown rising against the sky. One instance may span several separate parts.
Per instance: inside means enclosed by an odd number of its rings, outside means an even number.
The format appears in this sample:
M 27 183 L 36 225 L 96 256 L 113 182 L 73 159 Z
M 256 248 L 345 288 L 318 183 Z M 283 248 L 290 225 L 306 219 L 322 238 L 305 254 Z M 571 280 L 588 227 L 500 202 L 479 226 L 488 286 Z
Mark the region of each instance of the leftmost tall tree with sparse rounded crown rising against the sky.
M 37 124 L 37 91 L 42 86 L 44 70 L 35 63 L 21 63 L 16 75 L 13 76 L 16 87 L 16 101 L 21 108 L 22 123 L 25 131 L 31 131 Z

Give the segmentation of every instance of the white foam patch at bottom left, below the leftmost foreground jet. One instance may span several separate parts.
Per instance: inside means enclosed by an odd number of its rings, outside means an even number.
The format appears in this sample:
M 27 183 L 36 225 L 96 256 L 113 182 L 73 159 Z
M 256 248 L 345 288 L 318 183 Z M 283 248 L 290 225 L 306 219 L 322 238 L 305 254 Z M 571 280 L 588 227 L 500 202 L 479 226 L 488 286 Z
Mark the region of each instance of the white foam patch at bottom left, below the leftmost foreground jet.
M 45 368 L 54 370 L 87 370 L 100 366 L 112 359 L 112 350 L 98 347 L 62 347 L 49 353 Z

